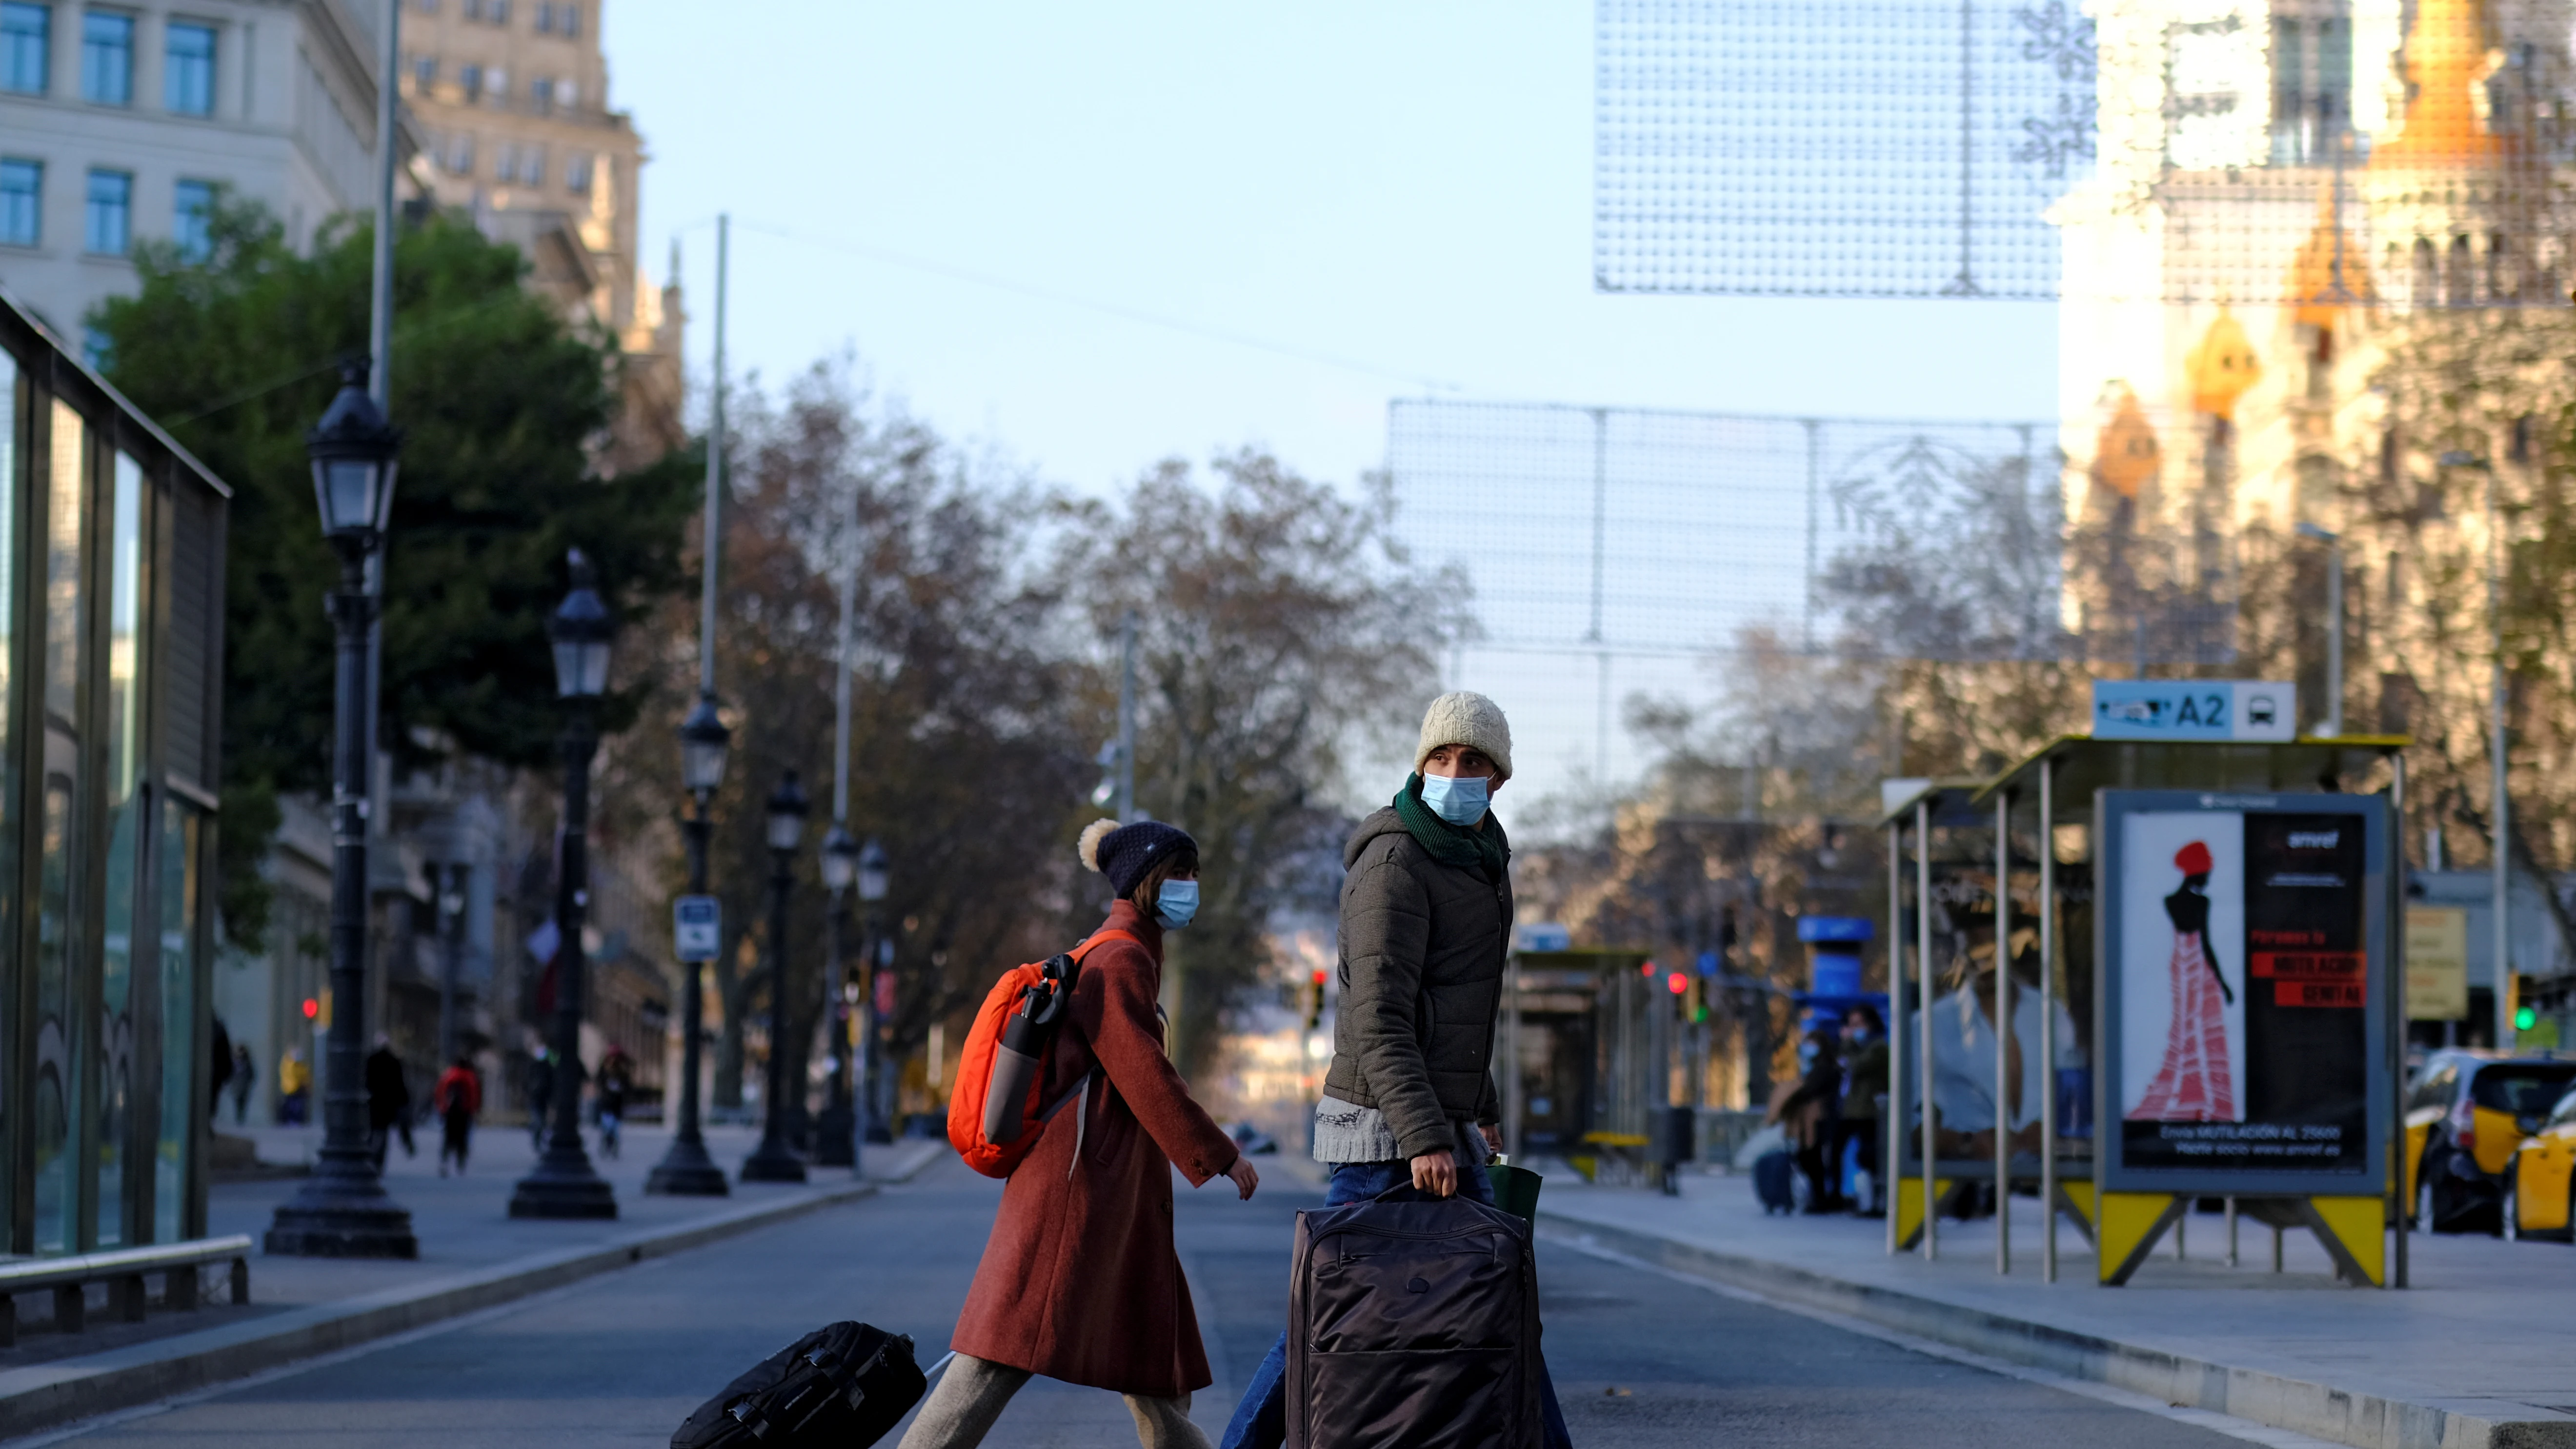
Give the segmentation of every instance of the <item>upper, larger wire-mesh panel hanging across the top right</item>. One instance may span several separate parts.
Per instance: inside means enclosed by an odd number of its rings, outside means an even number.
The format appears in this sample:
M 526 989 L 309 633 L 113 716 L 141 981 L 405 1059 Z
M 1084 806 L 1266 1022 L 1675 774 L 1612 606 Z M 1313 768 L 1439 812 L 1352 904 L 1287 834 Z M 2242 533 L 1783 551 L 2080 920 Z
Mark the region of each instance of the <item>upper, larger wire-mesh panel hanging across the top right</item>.
M 2566 304 L 2568 0 L 1600 0 L 1605 291 Z

